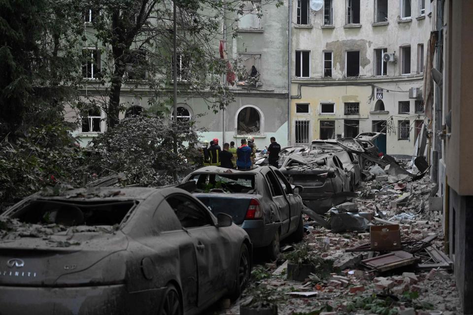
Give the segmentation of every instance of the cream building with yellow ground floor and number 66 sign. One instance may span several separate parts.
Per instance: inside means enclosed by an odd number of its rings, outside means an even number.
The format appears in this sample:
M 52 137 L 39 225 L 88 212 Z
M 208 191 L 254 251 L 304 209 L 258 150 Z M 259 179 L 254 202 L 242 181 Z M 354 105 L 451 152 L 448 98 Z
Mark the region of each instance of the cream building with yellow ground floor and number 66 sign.
M 412 155 L 425 121 L 430 1 L 315 2 L 292 3 L 291 144 L 383 132 L 381 152 Z

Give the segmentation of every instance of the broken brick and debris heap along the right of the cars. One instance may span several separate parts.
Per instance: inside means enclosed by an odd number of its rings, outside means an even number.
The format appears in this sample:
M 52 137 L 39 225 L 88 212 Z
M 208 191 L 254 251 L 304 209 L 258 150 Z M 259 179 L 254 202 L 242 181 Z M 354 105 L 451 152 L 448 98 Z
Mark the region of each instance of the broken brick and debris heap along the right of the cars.
M 361 183 L 351 202 L 325 216 L 304 211 L 304 246 L 330 261 L 328 274 L 315 269 L 304 281 L 293 281 L 290 255 L 283 254 L 277 264 L 256 267 L 241 301 L 263 285 L 284 315 L 462 314 L 452 262 L 443 253 L 435 184 L 404 175 L 392 182 L 396 175 L 386 170 L 370 175 L 373 180 Z M 238 305 L 215 314 L 240 314 Z

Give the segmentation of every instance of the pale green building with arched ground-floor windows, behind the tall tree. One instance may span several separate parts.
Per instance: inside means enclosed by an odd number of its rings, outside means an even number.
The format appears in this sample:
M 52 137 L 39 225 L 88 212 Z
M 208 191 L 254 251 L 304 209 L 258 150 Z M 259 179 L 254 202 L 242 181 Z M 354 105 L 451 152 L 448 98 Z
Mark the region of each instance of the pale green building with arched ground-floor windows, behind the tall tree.
M 164 3 L 164 2 L 163 2 Z M 172 1 L 169 1 L 169 5 Z M 233 2 L 232 2 L 233 3 Z M 186 71 L 192 67 L 192 60 L 185 53 L 178 54 L 178 119 L 195 118 L 198 127 L 206 130 L 201 133 L 201 141 L 218 138 L 220 143 L 235 141 L 241 138 L 254 137 L 258 147 L 269 145 L 270 137 L 276 137 L 281 145 L 287 144 L 288 134 L 288 3 L 276 8 L 274 1 L 248 1 L 238 14 L 236 11 L 213 12 L 221 21 L 220 38 L 215 38 L 215 56 L 219 55 L 219 42 L 224 41 L 225 52 L 230 62 L 238 59 L 246 68 L 246 74 L 237 75 L 236 82 L 230 86 L 235 101 L 224 111 L 214 113 L 209 109 L 209 95 L 190 91 L 186 81 Z M 96 83 L 94 70 L 100 70 L 106 60 L 108 49 L 95 47 L 93 14 L 85 16 L 90 47 L 84 47 L 91 54 L 92 62 L 84 65 L 84 88 L 82 95 L 101 98 L 106 102 L 105 87 Z M 286 21 L 281 23 L 281 21 Z M 218 37 L 218 36 L 216 36 Z M 218 57 L 217 57 L 218 58 Z M 172 59 L 169 58 L 169 75 L 172 70 Z M 235 69 L 236 70 L 236 69 Z M 139 78 L 138 78 L 139 79 Z M 222 82 L 226 78 L 220 78 Z M 138 80 L 139 81 L 139 80 Z M 144 80 L 145 81 L 145 80 Z M 172 81 L 171 81 L 172 82 Z M 149 95 L 153 91 L 147 85 L 140 84 L 136 78 L 125 80 L 121 90 L 121 103 L 126 110 L 119 119 L 131 114 L 139 114 L 150 107 Z M 162 95 L 172 95 L 172 83 L 166 86 Z M 168 102 L 169 103 L 169 102 Z M 172 104 L 169 104 L 169 119 L 172 115 Z M 70 120 L 79 113 L 70 112 Z M 104 132 L 107 128 L 105 113 L 91 110 L 88 117 L 81 117 L 82 125 L 78 126 L 75 135 L 79 136 L 82 145 Z

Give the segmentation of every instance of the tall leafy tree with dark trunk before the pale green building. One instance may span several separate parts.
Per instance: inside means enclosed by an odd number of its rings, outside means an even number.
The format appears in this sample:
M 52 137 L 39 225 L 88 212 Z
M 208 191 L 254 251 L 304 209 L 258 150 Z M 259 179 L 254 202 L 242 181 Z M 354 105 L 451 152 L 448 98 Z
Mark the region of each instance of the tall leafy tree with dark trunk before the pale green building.
M 185 82 L 180 90 L 201 95 L 209 108 L 224 108 L 232 100 L 227 84 L 227 63 L 220 58 L 219 40 L 223 38 L 223 21 L 235 20 L 244 13 L 249 0 L 176 0 L 179 29 L 178 79 Z M 256 2 L 256 1 L 255 1 Z M 268 5 L 281 0 L 268 0 Z M 172 99 L 166 87 L 172 80 L 172 1 L 158 0 L 95 0 L 84 6 L 101 12 L 94 20 L 95 32 L 88 41 L 101 47 L 105 58 L 101 66 L 101 82 L 92 87 L 107 95 L 107 99 L 90 101 L 101 106 L 109 127 L 118 123 L 123 108 L 120 104 L 123 83 L 130 73 L 146 69 L 144 77 L 135 80 L 135 88 L 154 91 L 150 105 L 162 106 Z M 99 93 L 100 94 L 100 93 Z

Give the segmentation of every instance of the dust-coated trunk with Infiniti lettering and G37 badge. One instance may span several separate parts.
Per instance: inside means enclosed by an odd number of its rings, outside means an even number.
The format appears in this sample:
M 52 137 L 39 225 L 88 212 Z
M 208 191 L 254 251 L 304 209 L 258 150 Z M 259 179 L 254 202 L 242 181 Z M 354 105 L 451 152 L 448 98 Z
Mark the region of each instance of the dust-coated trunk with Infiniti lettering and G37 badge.
M 127 244 L 121 232 L 113 235 L 63 231 L 41 237 L 3 240 L 0 242 L 0 285 L 114 284 L 123 279 L 117 275 L 107 277 L 103 266 L 96 264 L 113 252 L 125 250 Z M 68 277 L 70 274 L 74 276 Z

